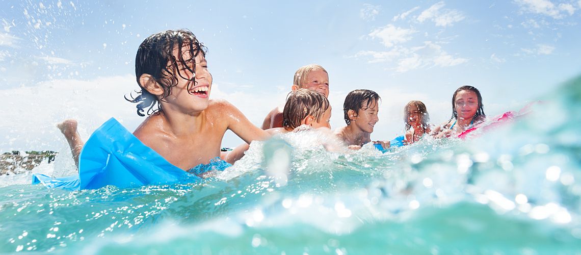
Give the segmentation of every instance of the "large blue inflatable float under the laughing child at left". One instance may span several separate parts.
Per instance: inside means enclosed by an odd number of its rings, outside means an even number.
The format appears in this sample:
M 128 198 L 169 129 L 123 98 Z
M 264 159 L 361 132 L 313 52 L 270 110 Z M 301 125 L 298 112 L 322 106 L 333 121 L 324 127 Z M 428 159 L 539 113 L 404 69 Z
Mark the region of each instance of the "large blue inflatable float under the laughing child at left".
M 106 185 L 131 188 L 142 185 L 186 184 L 200 181 L 195 174 L 231 166 L 219 158 L 189 171 L 169 163 L 153 149 L 110 118 L 91 135 L 79 157 L 79 174 L 52 178 L 34 174 L 33 184 L 67 190 L 98 189 Z

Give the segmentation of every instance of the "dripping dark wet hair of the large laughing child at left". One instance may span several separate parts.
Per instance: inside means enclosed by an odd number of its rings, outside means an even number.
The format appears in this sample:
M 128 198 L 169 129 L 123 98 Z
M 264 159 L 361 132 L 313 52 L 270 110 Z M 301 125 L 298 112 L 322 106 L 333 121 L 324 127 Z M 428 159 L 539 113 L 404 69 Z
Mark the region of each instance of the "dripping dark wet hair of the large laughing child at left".
M 177 58 L 173 52 L 177 49 Z M 146 114 L 150 115 L 162 110 L 160 101 L 164 101 L 167 96 L 171 95 L 171 89 L 178 83 L 178 76 L 189 80 L 189 88 L 195 86 L 196 73 L 196 56 L 202 54 L 206 56 L 207 48 L 198 41 L 196 36 L 188 30 L 167 30 L 162 33 L 150 35 L 146 38 L 135 56 L 135 76 L 137 84 L 141 91 L 137 92 L 135 98 L 130 95 L 131 99 L 125 96 L 129 102 L 137 103 L 137 114 L 145 116 L 143 112 L 149 107 Z M 185 53 L 185 54 L 184 54 Z M 184 59 L 184 55 L 185 58 Z M 183 70 L 180 70 L 183 69 Z M 188 71 L 194 74 L 191 78 L 185 75 Z M 156 95 L 150 94 L 147 89 L 139 82 L 143 74 L 149 74 L 155 79 L 157 84 L 163 88 L 163 95 L 157 98 Z

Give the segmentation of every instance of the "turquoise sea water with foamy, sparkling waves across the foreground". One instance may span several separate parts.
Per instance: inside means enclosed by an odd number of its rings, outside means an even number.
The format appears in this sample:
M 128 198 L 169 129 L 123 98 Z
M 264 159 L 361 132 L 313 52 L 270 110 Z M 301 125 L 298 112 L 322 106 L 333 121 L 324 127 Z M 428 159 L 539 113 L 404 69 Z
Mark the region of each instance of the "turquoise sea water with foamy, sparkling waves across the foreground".
M 200 184 L 67 192 L 5 176 L 0 252 L 581 253 L 581 79 L 531 110 L 384 155 L 291 134 Z

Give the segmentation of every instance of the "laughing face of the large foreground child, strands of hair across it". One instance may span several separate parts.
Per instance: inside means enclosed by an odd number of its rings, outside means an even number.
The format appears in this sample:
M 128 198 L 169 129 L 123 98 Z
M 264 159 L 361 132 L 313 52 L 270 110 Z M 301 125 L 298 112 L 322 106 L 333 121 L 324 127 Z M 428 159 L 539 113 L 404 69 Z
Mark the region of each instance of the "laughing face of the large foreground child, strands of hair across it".
M 192 59 L 189 52 L 187 52 L 187 49 L 182 48 L 182 52 L 184 62 L 188 64 L 190 69 L 193 70 L 193 62 L 195 62 L 196 73 L 192 73 L 178 61 L 178 69 L 181 75 L 177 75 L 178 83 L 171 90 L 171 95 L 166 99 L 168 103 L 171 103 L 171 105 L 177 109 L 184 110 L 185 112 L 190 112 L 192 110 L 200 112 L 208 107 L 212 76 L 210 71 L 208 71 L 207 61 L 201 53 Z M 177 54 L 178 49 L 174 49 L 174 56 L 176 56 L 176 58 Z M 193 77 L 195 77 L 196 82 L 190 85 L 188 91 L 188 79 Z

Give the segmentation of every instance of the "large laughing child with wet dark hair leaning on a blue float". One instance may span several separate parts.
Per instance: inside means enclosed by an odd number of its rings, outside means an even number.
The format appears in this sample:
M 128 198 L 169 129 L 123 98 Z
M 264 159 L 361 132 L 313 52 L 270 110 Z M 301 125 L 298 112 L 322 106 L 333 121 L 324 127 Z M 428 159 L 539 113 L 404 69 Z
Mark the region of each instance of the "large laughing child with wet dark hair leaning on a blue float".
M 231 103 L 209 99 L 212 76 L 205 57 L 205 46 L 187 30 L 151 35 L 135 57 L 135 76 L 141 91 L 128 100 L 137 103 L 139 116 L 145 116 L 144 112 L 149 116 L 133 135 L 184 171 L 220 160 L 220 145 L 227 130 L 248 143 L 270 137 Z M 78 155 L 84 145 L 76 121 L 63 121 L 59 128 L 79 166 Z M 83 164 L 80 167 L 82 174 Z

